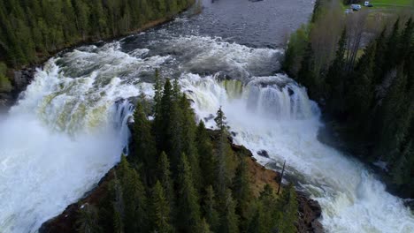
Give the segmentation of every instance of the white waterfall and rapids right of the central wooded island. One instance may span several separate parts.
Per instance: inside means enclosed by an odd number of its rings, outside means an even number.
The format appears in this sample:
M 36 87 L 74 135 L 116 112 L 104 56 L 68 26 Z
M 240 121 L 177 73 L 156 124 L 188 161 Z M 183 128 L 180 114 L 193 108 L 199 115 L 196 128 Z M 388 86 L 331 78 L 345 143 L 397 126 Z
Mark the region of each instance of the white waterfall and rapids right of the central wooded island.
M 222 106 L 235 142 L 254 154 L 268 152 L 270 159 L 256 154 L 259 162 L 287 161 L 288 173 L 321 204 L 327 231 L 414 232 L 414 216 L 401 199 L 360 162 L 318 141 L 318 107 L 291 79 L 253 78 L 242 86 L 186 75 L 181 83 L 199 116 L 207 119 Z

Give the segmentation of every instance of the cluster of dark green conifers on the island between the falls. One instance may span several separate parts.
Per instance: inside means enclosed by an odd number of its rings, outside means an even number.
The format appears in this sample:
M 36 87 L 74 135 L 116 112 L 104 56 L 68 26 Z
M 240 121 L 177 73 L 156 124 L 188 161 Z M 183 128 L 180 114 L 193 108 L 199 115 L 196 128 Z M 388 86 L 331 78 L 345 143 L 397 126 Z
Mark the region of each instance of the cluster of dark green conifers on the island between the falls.
M 157 78 L 154 101 L 136 104 L 131 154 L 103 204 L 80 208 L 79 232 L 296 232 L 295 189 L 256 197 L 221 109 L 215 121 L 214 132 L 196 124 L 178 81 Z

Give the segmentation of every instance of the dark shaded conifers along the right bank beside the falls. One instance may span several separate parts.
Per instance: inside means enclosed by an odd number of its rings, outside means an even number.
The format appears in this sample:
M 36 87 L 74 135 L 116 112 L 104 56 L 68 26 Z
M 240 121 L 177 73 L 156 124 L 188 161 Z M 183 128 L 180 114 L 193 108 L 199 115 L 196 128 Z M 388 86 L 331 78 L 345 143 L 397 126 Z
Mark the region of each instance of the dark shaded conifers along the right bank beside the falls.
M 361 35 L 348 24 L 342 28 L 336 52 L 322 69 L 316 68 L 311 33 L 296 32 L 285 69 L 334 118 L 353 152 L 386 164 L 389 183 L 413 197 L 414 23 L 397 19 L 359 57 Z

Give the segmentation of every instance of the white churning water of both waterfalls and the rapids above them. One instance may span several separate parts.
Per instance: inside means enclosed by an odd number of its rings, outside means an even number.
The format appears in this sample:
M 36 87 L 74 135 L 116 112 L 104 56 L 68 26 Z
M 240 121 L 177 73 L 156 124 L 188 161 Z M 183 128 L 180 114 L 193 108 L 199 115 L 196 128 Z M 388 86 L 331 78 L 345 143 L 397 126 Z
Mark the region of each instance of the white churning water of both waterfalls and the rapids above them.
M 304 14 L 299 23 L 311 12 L 310 1 L 273 2 L 249 2 L 245 8 L 253 12 L 243 17 L 293 2 L 309 9 L 287 12 L 298 18 Z M 216 3 L 218 9 L 226 6 L 220 3 L 228 2 Z M 227 40 L 215 36 L 228 32 L 212 26 L 209 35 L 203 21 L 220 18 L 214 4 L 205 4 L 200 16 L 73 49 L 36 72 L 19 103 L 0 119 L 0 232 L 35 232 L 119 162 L 133 111 L 128 100 L 141 92 L 153 94 L 155 68 L 163 77 L 180 77 L 197 116 L 208 126 L 213 124 L 209 116 L 222 106 L 235 142 L 248 147 L 259 162 L 280 166 L 286 160 L 297 188 L 321 204 L 327 231 L 414 232 L 414 216 L 402 199 L 387 193 L 362 163 L 318 141 L 324 124 L 317 104 L 303 86 L 277 73 L 283 51 L 262 43 L 274 45 L 267 39 L 243 41 L 241 30 Z M 269 18 L 283 23 L 272 14 Z M 257 25 L 271 22 L 264 20 Z M 219 28 L 226 27 L 223 22 Z M 269 158 L 256 154 L 263 149 Z

